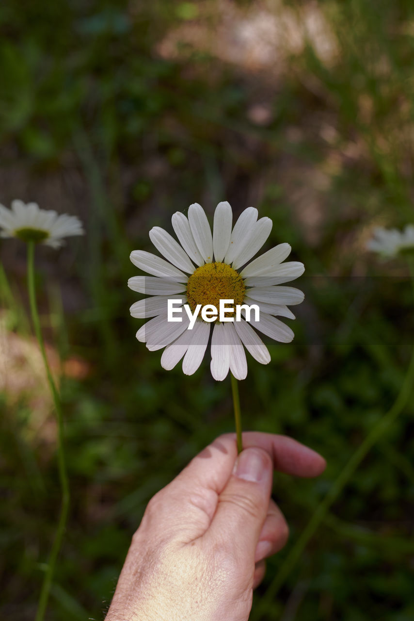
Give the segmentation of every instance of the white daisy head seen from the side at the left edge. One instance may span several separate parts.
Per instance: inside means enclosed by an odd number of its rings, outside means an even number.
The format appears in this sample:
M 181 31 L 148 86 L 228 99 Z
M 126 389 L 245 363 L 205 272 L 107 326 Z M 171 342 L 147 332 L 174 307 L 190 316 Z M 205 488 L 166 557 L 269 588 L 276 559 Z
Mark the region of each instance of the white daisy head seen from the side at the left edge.
M 44 243 L 52 248 L 63 245 L 63 237 L 83 235 L 82 222 L 76 215 L 39 209 L 37 203 L 12 201 L 11 209 L 0 204 L 1 237 L 18 237 L 24 242 Z

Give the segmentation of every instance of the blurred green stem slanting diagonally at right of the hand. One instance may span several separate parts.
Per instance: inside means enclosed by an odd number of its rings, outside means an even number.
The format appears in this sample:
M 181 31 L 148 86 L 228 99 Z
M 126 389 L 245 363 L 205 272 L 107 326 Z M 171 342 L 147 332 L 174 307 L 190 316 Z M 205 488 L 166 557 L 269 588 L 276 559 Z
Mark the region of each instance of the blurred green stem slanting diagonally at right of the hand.
M 412 273 L 412 284 L 414 290 L 414 260 L 410 260 L 410 270 Z M 261 615 L 264 615 L 266 613 L 269 603 L 274 598 L 274 596 L 276 596 L 287 576 L 289 576 L 295 564 L 302 556 L 308 541 L 310 540 L 310 538 L 313 537 L 321 522 L 325 520 L 331 505 L 336 501 L 344 486 L 346 485 L 346 483 L 348 483 L 351 476 L 353 476 L 354 472 L 361 464 L 361 461 L 367 455 L 368 451 L 372 448 L 372 446 L 374 446 L 377 440 L 379 440 L 379 438 L 390 427 L 392 422 L 394 422 L 397 416 L 407 405 L 408 399 L 412 394 L 413 385 L 414 348 L 412 351 L 410 364 L 408 365 L 407 373 L 405 375 L 405 379 L 403 381 L 400 392 L 398 393 L 397 399 L 395 399 L 394 404 L 390 407 L 388 412 L 386 412 L 382 419 L 377 422 L 375 427 L 372 428 L 371 432 L 368 433 L 365 440 L 361 443 L 361 445 L 359 445 L 355 453 L 353 453 L 338 478 L 336 478 L 336 480 L 334 481 L 330 491 L 328 491 L 323 501 L 320 502 L 320 504 L 318 505 L 315 513 L 312 515 L 312 518 L 309 520 L 307 526 L 305 527 L 305 530 L 302 532 L 302 535 L 300 535 L 299 539 L 290 550 L 289 555 L 287 555 L 286 560 L 284 561 L 278 573 L 268 587 L 265 596 L 260 602 L 258 602 L 255 615 L 256 619 L 261 619 Z

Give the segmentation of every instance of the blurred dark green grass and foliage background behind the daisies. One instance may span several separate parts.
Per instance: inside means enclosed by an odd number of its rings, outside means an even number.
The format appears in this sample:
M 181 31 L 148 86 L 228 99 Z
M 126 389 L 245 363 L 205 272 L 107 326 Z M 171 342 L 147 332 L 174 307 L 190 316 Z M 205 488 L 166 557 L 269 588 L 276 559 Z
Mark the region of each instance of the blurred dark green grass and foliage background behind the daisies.
M 48 619 L 104 617 L 148 499 L 219 433 L 230 380 L 161 369 L 135 340 L 128 255 L 148 230 L 228 200 L 274 225 L 307 271 L 290 345 L 250 358 L 245 428 L 287 433 L 328 460 L 278 474 L 289 546 L 392 404 L 412 348 L 398 261 L 365 243 L 412 221 L 410 0 L 4 0 L 0 202 L 77 214 L 87 234 L 37 250 L 42 324 L 59 376 L 70 521 Z M 30 336 L 25 248 L 1 242 L 1 619 L 34 619 L 58 514 L 56 427 Z M 414 619 L 410 405 L 369 453 L 267 612 L 282 621 Z M 252 619 L 255 619 L 255 606 Z

